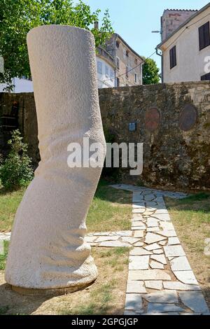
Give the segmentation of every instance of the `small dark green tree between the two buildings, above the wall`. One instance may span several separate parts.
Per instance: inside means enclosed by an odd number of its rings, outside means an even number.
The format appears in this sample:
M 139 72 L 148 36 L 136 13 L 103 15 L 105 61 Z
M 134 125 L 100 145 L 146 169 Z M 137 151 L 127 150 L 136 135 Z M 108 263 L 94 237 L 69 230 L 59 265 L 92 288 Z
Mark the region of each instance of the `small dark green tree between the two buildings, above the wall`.
M 160 82 L 160 74 L 158 66 L 154 59 L 145 58 L 145 63 L 143 65 L 143 84 L 144 85 L 154 85 Z

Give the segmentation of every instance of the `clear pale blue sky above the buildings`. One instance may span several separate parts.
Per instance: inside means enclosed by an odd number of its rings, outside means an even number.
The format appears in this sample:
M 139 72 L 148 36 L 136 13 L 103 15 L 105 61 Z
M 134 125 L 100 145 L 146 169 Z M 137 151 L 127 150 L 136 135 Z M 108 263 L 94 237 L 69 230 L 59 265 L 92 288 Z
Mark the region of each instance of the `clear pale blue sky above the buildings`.
M 207 0 L 83 0 L 94 11 L 102 12 L 109 8 L 111 22 L 116 33 L 141 56 L 149 57 L 156 45 L 160 43 L 160 17 L 165 9 L 200 9 Z M 158 55 L 151 57 L 160 67 L 161 59 Z

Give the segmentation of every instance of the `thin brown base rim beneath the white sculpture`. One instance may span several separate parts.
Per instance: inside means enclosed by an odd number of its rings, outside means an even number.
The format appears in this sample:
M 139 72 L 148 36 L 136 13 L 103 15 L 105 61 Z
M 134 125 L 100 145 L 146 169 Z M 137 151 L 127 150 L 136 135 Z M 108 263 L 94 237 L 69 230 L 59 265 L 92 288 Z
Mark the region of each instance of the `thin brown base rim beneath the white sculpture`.
M 94 281 L 90 283 L 80 284 L 79 286 L 72 286 L 66 288 L 52 288 L 52 289 L 31 289 L 31 288 L 22 288 L 16 286 L 10 286 L 15 293 L 20 293 L 20 295 L 27 296 L 59 296 L 66 295 L 66 293 L 76 293 L 78 290 L 83 290 L 88 286 L 91 286 Z

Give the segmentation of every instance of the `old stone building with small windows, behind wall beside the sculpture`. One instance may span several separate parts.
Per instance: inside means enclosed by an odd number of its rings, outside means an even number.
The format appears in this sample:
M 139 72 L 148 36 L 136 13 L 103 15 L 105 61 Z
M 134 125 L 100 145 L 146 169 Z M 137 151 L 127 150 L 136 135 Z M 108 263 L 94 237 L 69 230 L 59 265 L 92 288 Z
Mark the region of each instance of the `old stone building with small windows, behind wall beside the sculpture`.
M 113 34 L 106 42 L 106 51 L 116 64 L 116 87 L 142 85 L 144 59 L 119 34 Z

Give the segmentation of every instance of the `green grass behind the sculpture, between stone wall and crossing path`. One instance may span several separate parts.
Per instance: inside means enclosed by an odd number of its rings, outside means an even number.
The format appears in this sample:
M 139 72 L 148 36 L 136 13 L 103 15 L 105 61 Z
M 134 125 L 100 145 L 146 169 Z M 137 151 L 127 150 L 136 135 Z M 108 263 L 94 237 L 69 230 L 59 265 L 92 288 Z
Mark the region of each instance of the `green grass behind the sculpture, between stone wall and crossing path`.
M 0 190 L 0 232 L 11 230 L 15 212 L 25 193 L 25 188 L 5 193 Z M 132 193 L 109 187 L 100 181 L 87 215 L 89 232 L 130 230 L 132 218 Z

